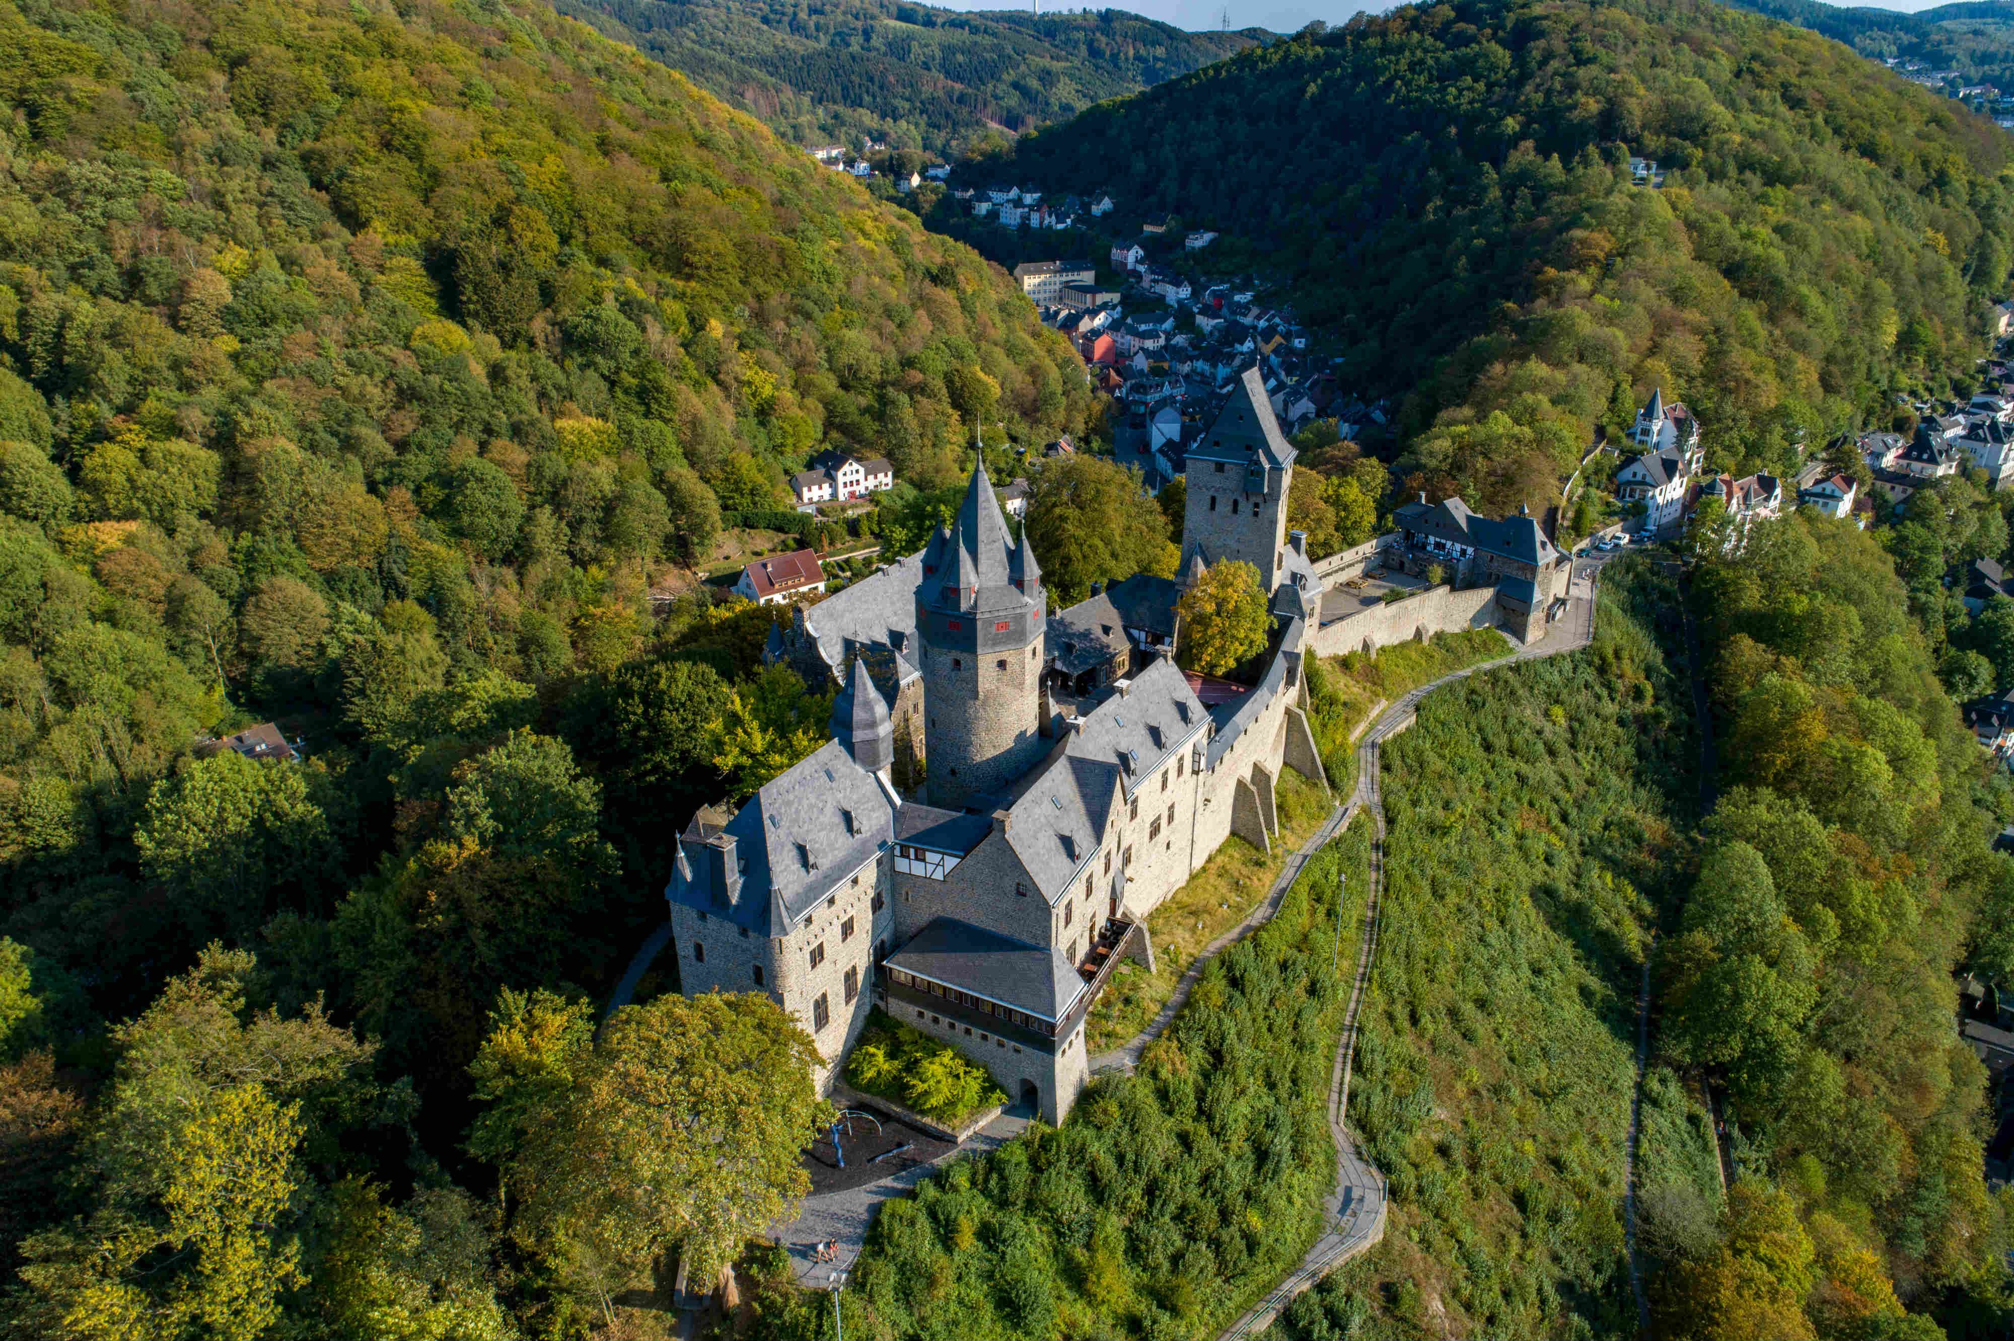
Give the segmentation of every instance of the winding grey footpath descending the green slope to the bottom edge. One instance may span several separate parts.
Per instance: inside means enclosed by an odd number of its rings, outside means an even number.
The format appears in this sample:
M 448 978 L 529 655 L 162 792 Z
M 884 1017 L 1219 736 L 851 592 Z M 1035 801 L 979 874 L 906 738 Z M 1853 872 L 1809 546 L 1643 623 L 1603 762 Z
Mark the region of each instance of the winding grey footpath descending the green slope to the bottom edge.
M 1363 1009 L 1363 997 L 1370 991 L 1372 966 L 1378 956 L 1378 924 L 1380 924 L 1380 900 L 1384 894 L 1384 793 L 1380 789 L 1380 747 L 1390 737 L 1398 735 L 1410 727 L 1418 715 L 1420 701 L 1434 693 L 1442 685 L 1452 685 L 1454 681 L 1468 679 L 1478 670 L 1490 670 L 1519 660 L 1537 660 L 1541 656 L 1559 656 L 1561 652 L 1575 652 L 1587 646 L 1595 636 L 1595 576 L 1601 570 L 1601 562 L 1583 562 L 1573 570 L 1573 578 L 1567 586 L 1569 602 L 1565 616 L 1553 624 L 1545 638 L 1533 642 L 1531 646 L 1519 648 L 1508 656 L 1498 660 L 1486 660 L 1480 666 L 1468 666 L 1466 670 L 1454 670 L 1438 681 L 1414 689 L 1410 695 L 1388 707 L 1363 733 L 1357 745 L 1357 787 L 1349 797 L 1349 803 L 1341 811 L 1341 822 L 1335 832 L 1349 826 L 1357 809 L 1368 809 L 1372 817 L 1372 888 L 1363 900 L 1363 934 L 1357 944 L 1357 973 L 1349 987 L 1349 1009 L 1343 1015 L 1343 1033 L 1335 1043 L 1335 1067 L 1329 1081 L 1329 1136 L 1335 1140 L 1335 1190 L 1323 1200 L 1325 1220 L 1329 1230 L 1315 1240 L 1301 1258 L 1301 1266 L 1295 1269 L 1285 1281 L 1281 1281 L 1273 1291 L 1261 1299 L 1253 1309 L 1245 1313 L 1237 1323 L 1233 1323 L 1220 1341 L 1233 1341 L 1235 1337 L 1257 1337 L 1287 1309 L 1289 1303 L 1325 1275 L 1347 1262 L 1357 1252 L 1370 1248 L 1380 1238 L 1384 1238 L 1386 1226 L 1386 1180 L 1370 1160 L 1357 1150 L 1355 1140 L 1349 1136 L 1343 1118 L 1349 1109 L 1349 1075 L 1355 1063 L 1357 1045 L 1357 1015 Z M 1319 838 L 1319 836 L 1317 836 Z M 1281 872 L 1285 876 L 1285 872 Z M 1275 898 L 1267 900 L 1277 906 Z M 1263 920 L 1263 918 L 1259 918 Z M 1243 932 L 1245 928 L 1241 928 Z M 1214 950 L 1216 946 L 1212 946 Z M 1200 966 L 1200 956 L 1198 956 Z M 1162 1021 L 1154 1021 L 1162 1025 Z M 1140 1047 L 1150 1039 L 1134 1039 Z M 1128 1047 L 1134 1047 L 1128 1043 Z M 1639 1085 L 1641 1085 L 1641 1065 Z M 1633 1128 L 1631 1128 L 1633 1142 Z

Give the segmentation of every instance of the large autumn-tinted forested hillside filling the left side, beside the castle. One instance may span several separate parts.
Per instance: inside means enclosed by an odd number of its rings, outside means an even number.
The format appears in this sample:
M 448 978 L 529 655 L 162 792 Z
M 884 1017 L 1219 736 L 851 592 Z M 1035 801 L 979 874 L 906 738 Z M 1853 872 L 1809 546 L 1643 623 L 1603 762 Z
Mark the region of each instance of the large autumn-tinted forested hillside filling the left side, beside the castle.
M 767 612 L 646 586 L 816 445 L 1082 431 L 1075 356 L 538 4 L 0 2 L 0 1333 L 578 1335 L 638 1216 L 528 1164 L 516 1021 L 568 1115 L 709 1027 L 802 1073 L 677 997 L 572 1047 L 691 807 L 826 735 Z M 304 761 L 191 755 L 268 719 Z

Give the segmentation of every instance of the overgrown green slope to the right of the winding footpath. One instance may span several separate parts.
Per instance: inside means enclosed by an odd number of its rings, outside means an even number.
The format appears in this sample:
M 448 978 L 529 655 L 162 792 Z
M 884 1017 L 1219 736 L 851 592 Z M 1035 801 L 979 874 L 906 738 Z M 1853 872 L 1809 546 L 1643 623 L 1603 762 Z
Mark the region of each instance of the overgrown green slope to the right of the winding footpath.
M 1351 1317 L 1374 1335 L 1631 1327 L 1635 991 L 1694 795 L 1688 691 L 1647 614 L 1605 600 L 1593 650 L 1448 687 L 1386 749 L 1390 884 L 1351 1122 L 1392 1222 L 1295 1305 L 1291 1337 Z M 1682 1176 L 1684 1097 L 1653 1109 L 1660 1176 Z

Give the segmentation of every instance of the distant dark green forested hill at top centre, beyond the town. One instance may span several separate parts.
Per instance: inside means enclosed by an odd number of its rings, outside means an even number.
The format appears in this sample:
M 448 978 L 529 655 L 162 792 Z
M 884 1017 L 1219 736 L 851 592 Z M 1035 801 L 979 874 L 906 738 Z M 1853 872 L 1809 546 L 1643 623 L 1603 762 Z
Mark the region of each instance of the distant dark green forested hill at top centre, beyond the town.
M 951 153 L 1188 74 L 1271 34 L 1126 10 L 961 12 L 908 0 L 560 0 L 802 145 Z

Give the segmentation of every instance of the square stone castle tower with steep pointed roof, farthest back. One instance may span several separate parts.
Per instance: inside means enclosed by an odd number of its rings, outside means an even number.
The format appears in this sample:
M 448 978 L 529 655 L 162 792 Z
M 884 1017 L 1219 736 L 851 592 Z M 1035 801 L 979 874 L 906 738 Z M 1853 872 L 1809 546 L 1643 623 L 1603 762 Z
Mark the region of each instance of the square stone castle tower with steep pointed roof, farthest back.
M 1182 572 L 1245 560 L 1259 570 L 1259 590 L 1281 582 L 1287 550 L 1287 489 L 1293 443 L 1265 395 L 1259 368 L 1247 368 L 1216 423 L 1188 449 L 1188 511 L 1182 515 Z

